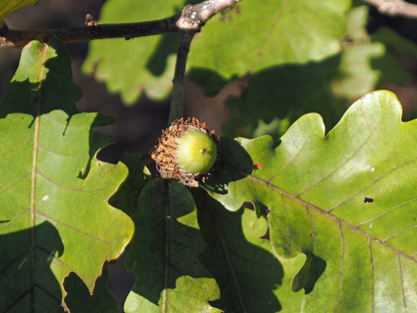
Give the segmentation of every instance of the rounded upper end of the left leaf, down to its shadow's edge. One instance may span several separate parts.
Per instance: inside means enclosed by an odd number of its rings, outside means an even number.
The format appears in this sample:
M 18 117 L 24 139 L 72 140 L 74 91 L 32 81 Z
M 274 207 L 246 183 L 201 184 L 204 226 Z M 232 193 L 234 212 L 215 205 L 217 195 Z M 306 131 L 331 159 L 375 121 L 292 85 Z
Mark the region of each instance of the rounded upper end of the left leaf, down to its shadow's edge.
M 42 54 L 47 54 L 42 73 Z M 72 81 L 70 53 L 63 43 L 52 38 L 49 45 L 32 41 L 22 50 L 19 67 L 0 102 L 0 118 L 10 113 L 33 116 L 60 109 L 68 115 L 80 113 L 75 103 L 81 99 L 79 86 Z

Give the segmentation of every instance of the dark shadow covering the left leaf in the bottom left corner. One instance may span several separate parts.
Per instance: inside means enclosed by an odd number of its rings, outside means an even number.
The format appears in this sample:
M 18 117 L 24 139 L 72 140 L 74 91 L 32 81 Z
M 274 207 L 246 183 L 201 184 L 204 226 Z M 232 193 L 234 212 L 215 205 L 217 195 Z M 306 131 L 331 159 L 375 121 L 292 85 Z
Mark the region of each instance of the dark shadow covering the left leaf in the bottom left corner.
M 49 222 L 0 235 L 0 312 L 56 310 L 62 298 L 50 268 L 56 252 L 60 257 L 64 246 Z

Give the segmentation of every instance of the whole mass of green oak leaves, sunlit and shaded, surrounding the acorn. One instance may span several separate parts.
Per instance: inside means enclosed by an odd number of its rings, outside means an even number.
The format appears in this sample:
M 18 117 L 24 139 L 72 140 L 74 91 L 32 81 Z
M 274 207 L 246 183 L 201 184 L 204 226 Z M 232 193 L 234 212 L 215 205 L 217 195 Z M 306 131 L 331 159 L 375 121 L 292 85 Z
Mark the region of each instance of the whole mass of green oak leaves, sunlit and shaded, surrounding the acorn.
M 163 18 L 186 4 L 149 2 L 108 0 L 100 22 Z M 252 72 L 227 103 L 224 132 L 259 134 L 258 120 L 275 136 L 286 131 L 278 146 L 271 136 L 220 138 L 218 168 L 202 188 L 152 177 L 138 154 L 99 161 L 109 138 L 95 129 L 114 120 L 76 110 L 81 90 L 65 45 L 24 47 L 0 102 L 1 312 L 118 312 L 106 260 L 128 243 L 136 282 L 125 312 L 417 307 L 417 122 L 401 121 L 388 91 L 343 109 L 358 81 L 360 93 L 406 83 L 386 47 L 402 42 L 407 49 L 394 52 L 407 56 L 416 47 L 388 29 L 373 41 L 366 8 L 348 11 L 347 0 L 257 2 L 204 26 L 188 77 L 214 95 Z M 126 104 L 141 90 L 162 99 L 177 40 L 96 40 L 84 70 Z M 306 111 L 329 125 L 341 119 L 326 134 Z

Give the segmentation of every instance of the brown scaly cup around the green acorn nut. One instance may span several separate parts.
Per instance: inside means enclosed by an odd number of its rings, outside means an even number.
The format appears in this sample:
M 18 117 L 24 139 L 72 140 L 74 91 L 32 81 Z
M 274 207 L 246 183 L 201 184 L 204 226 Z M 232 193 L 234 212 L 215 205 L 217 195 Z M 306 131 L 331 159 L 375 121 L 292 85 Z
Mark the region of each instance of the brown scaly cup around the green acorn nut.
M 213 138 L 215 143 L 218 142 L 214 131 L 209 131 L 205 122 L 200 122 L 197 118 L 193 118 L 193 120 L 188 118 L 186 121 L 181 118 L 180 120 L 174 120 L 168 129 L 162 131 L 162 136 L 158 138 L 158 145 L 155 146 L 151 156 L 156 161 L 156 168 L 161 173 L 162 178 L 175 179 L 188 186 L 198 187 L 198 181 L 202 180 L 204 182 L 204 179 L 210 175 L 210 170 L 202 174 L 192 174 L 177 166 L 179 161 L 175 155 L 178 150 L 175 139 L 183 136 L 187 129 L 192 128 L 205 131 Z

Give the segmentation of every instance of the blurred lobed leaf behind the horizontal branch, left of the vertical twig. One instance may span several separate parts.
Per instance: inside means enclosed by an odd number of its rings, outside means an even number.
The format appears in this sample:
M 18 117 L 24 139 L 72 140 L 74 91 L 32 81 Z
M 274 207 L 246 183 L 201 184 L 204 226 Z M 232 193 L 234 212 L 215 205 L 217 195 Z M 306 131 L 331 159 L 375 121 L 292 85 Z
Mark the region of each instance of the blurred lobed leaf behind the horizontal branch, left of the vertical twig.
M 99 22 L 163 19 L 178 13 L 183 5 L 183 0 L 109 0 L 101 9 Z M 83 70 L 106 82 L 112 93 L 120 92 L 126 104 L 133 104 L 142 92 L 162 100 L 172 88 L 178 40 L 177 34 L 95 40 L 90 43 Z

